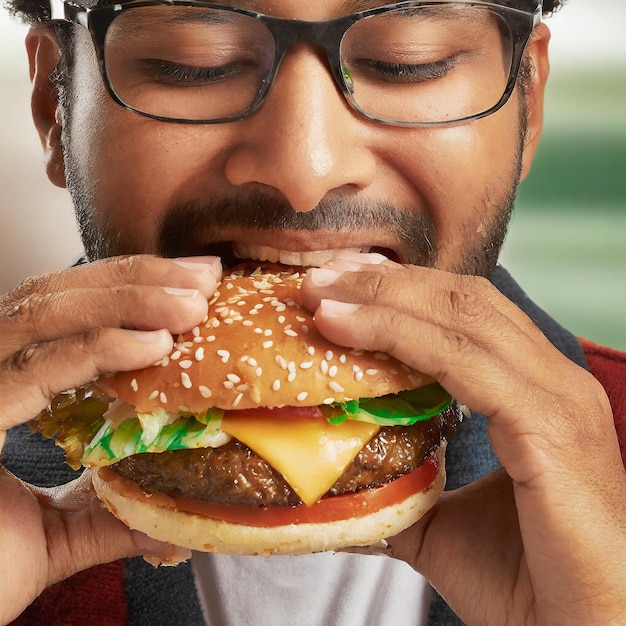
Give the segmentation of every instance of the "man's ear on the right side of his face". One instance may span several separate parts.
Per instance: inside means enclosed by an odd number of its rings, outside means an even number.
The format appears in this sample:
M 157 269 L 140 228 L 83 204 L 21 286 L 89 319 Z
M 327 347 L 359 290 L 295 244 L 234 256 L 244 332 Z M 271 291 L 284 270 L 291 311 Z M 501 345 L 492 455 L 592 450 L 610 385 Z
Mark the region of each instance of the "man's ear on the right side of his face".
M 543 101 L 546 89 L 546 82 L 550 72 L 550 62 L 548 59 L 548 44 L 550 42 L 550 31 L 545 24 L 539 24 L 532 34 L 526 56 L 530 57 L 532 64 L 532 75 L 529 78 L 526 93 L 526 105 L 528 115 L 528 128 L 524 140 L 524 151 L 522 156 L 522 180 L 528 176 L 530 166 L 539 145 L 541 131 L 543 130 Z

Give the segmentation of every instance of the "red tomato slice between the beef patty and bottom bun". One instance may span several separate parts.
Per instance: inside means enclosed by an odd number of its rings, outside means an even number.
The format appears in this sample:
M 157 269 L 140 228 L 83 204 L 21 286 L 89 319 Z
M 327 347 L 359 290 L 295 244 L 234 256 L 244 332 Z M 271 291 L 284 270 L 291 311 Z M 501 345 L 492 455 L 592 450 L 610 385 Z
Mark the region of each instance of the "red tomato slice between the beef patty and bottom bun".
M 431 454 L 416 470 L 373 489 L 342 496 L 329 496 L 312 506 L 243 507 L 214 504 L 191 498 L 174 499 L 180 511 L 246 526 L 286 526 L 288 524 L 324 523 L 362 517 L 426 491 L 437 478 L 437 457 Z

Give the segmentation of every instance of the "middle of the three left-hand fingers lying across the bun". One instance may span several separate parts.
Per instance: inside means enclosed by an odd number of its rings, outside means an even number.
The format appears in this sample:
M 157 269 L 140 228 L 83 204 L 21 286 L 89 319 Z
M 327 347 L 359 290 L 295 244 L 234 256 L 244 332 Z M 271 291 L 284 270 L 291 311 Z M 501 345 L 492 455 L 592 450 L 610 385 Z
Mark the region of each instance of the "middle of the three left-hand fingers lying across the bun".
M 0 334 L 6 338 L 0 355 L 101 327 L 182 333 L 200 323 L 207 311 L 207 299 L 199 290 L 179 287 L 131 285 L 31 294 L 0 321 Z

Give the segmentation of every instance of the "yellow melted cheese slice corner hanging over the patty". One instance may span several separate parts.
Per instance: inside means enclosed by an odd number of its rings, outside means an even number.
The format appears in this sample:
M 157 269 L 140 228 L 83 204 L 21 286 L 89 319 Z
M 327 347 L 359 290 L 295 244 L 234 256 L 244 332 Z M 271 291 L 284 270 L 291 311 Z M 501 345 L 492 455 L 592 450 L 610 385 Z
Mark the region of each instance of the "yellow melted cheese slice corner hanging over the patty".
M 380 426 L 346 420 L 337 426 L 321 418 L 224 414 L 222 430 L 265 459 L 311 506 L 337 481 Z

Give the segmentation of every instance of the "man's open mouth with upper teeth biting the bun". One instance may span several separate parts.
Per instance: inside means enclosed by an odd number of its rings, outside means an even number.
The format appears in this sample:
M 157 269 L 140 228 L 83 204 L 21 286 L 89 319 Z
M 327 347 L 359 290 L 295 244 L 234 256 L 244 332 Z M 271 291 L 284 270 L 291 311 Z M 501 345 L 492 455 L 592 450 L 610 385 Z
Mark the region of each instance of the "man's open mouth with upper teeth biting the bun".
M 287 250 L 273 246 L 243 241 L 224 241 L 206 246 L 202 254 L 218 256 L 222 265 L 232 267 L 243 261 L 259 261 L 280 263 L 282 265 L 301 267 L 320 267 L 334 259 L 340 251 L 378 252 L 392 261 L 401 262 L 399 255 L 390 248 L 379 246 L 352 246 L 326 248 L 323 250 Z

